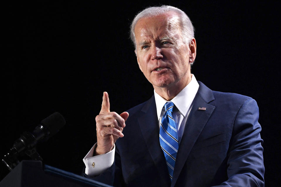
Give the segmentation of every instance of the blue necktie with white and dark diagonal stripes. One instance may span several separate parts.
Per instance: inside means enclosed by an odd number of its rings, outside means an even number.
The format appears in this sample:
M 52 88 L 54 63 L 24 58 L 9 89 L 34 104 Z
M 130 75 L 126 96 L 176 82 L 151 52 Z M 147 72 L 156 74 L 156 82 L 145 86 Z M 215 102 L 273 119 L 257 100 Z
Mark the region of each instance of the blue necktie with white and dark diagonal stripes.
M 167 102 L 164 106 L 165 113 L 160 125 L 159 140 L 160 146 L 166 158 L 169 176 L 172 180 L 177 152 L 179 149 L 179 141 L 177 134 L 177 125 L 172 116 L 173 108 L 175 108 L 174 103 L 170 101 Z

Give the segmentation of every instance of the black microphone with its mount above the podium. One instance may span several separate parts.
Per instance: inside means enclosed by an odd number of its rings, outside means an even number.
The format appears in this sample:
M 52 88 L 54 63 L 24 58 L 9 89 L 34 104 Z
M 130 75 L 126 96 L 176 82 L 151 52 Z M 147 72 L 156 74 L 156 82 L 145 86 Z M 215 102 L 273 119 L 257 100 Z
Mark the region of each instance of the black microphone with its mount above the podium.
M 42 158 L 36 152 L 36 144 L 38 142 L 47 141 L 64 125 L 65 119 L 59 112 L 55 112 L 49 117 L 46 117 L 32 132 L 23 132 L 20 138 L 13 143 L 13 147 L 4 156 L 2 162 L 11 171 L 19 163 L 18 156 L 26 154 L 31 157 L 32 160 L 42 161 Z

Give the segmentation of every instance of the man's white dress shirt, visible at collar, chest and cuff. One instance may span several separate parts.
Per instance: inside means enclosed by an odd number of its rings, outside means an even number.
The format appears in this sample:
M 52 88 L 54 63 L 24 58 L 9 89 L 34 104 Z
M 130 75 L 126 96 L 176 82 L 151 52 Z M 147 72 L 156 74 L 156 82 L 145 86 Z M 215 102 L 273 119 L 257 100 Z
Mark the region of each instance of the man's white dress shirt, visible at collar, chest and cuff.
M 189 115 L 189 111 L 192 108 L 192 103 L 198 91 L 198 88 L 199 88 L 199 84 L 196 81 L 195 76 L 191 74 L 190 83 L 186 87 L 184 87 L 184 89 L 182 89 L 177 94 L 177 96 L 175 96 L 171 100 L 174 103 L 174 105 L 177 107 L 176 110 L 173 110 L 173 117 L 177 122 L 177 134 L 178 134 L 179 143 L 181 141 L 181 137 L 184 132 L 184 127 Z M 165 112 L 164 105 L 167 101 L 164 98 L 162 98 L 158 93 L 156 93 L 155 90 L 154 90 L 154 96 L 155 96 L 158 123 L 160 127 L 160 123 Z M 109 167 L 111 167 L 114 162 L 115 146 L 108 153 L 93 157 L 93 151 L 95 149 L 96 144 L 97 143 L 95 143 L 95 145 L 91 148 L 88 154 L 83 158 L 83 162 L 86 166 L 85 174 L 89 176 L 101 174 L 102 172 L 106 171 Z M 94 167 L 92 166 L 93 163 L 94 163 Z

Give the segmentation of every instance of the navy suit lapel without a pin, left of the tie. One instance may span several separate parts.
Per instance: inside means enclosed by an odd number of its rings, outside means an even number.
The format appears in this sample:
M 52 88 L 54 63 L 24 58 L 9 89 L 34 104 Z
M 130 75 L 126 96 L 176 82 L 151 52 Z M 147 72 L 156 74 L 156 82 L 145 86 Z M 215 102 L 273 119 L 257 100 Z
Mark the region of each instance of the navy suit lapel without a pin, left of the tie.
M 138 123 L 143 134 L 148 153 L 153 159 L 155 166 L 162 179 L 162 186 L 170 186 L 166 160 L 159 143 L 159 127 L 154 96 L 148 100 L 138 116 Z

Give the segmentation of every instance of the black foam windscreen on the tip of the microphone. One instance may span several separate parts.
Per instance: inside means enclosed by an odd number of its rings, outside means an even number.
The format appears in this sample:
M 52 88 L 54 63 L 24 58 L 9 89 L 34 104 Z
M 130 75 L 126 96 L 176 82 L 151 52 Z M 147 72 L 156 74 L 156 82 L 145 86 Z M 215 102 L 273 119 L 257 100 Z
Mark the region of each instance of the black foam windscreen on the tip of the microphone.
M 50 131 L 51 136 L 56 134 L 61 127 L 65 125 L 64 117 L 59 113 L 55 112 L 49 117 L 46 117 L 41 121 L 41 124 Z

